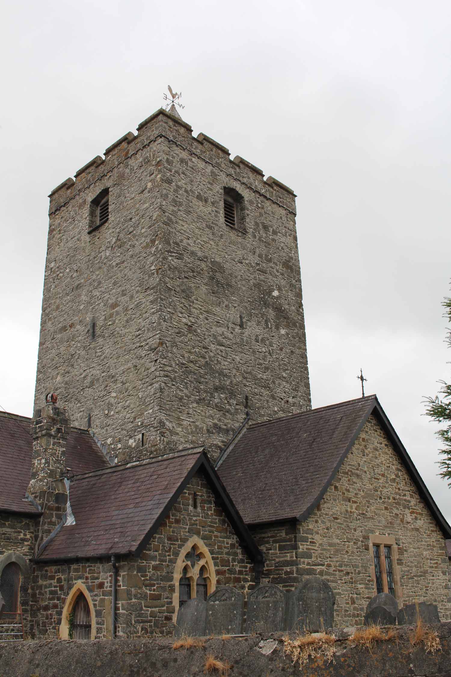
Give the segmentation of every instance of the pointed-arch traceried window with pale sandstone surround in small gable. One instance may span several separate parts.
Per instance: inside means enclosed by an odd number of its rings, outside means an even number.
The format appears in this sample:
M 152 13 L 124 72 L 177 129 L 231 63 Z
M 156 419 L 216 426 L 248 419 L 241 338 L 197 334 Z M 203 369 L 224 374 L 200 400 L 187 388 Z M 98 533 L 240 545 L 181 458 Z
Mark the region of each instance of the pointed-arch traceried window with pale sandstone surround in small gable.
M 179 608 L 189 599 L 206 600 L 216 588 L 214 565 L 208 548 L 197 536 L 183 546 L 174 567 L 174 623 Z

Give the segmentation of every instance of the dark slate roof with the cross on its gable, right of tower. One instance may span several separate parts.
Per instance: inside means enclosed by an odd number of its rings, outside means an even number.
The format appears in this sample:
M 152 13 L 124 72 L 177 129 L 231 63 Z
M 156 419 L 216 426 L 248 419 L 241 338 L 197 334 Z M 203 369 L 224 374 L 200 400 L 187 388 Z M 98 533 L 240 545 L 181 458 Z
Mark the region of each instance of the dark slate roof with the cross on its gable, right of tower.
M 450 525 L 375 395 L 252 424 L 226 447 L 216 468 L 245 523 L 307 519 L 371 414 L 381 423 L 444 536 L 451 538 Z

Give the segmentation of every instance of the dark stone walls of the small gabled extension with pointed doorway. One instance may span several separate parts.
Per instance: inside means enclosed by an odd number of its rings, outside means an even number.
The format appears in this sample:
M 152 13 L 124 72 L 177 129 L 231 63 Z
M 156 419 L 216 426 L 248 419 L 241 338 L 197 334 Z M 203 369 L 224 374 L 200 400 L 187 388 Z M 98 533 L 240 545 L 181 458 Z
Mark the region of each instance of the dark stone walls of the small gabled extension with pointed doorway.
M 192 494 L 199 501 L 193 508 Z M 208 548 L 216 585 L 245 592 L 254 584 L 252 563 L 239 546 L 210 485 L 195 476 L 139 559 L 118 558 L 117 636 L 172 634 L 174 565 L 183 546 L 197 536 Z M 84 584 L 95 609 L 96 637 L 110 636 L 112 565 L 85 561 L 36 565 L 32 576 L 32 636 L 56 636 L 62 611 L 77 583 Z

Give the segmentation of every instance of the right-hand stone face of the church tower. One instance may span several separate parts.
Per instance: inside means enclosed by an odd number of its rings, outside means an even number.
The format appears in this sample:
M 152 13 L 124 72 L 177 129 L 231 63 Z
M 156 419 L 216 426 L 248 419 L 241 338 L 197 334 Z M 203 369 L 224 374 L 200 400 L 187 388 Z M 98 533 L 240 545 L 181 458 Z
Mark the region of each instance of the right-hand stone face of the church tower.
M 227 148 L 166 127 L 166 439 L 170 447 L 206 443 L 215 457 L 247 409 L 265 420 L 310 408 L 295 202 L 264 185 L 257 168 L 231 161 Z M 224 223 L 224 187 L 243 196 L 245 232 Z

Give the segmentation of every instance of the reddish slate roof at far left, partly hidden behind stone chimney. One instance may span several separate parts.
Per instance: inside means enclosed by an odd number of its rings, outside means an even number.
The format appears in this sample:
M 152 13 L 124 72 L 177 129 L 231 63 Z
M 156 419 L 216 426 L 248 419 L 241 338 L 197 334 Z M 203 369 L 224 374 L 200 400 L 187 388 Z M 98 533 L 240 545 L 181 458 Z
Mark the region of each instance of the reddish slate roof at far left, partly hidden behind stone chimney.
M 25 499 L 30 482 L 31 419 L 0 412 L 0 510 L 40 515 Z M 66 445 L 66 465 L 74 473 L 110 467 L 88 431 L 72 428 Z

